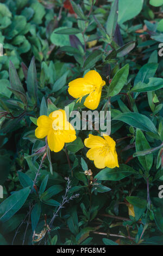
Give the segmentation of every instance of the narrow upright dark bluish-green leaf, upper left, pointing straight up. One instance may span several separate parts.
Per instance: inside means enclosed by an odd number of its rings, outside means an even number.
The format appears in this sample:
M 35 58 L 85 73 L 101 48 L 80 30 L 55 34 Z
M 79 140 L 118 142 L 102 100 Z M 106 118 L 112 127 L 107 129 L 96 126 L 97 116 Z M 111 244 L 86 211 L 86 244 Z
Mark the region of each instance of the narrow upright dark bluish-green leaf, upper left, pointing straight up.
M 37 73 L 35 66 L 35 58 L 32 58 L 27 73 L 27 90 L 29 97 L 33 99 L 35 104 L 37 103 Z

